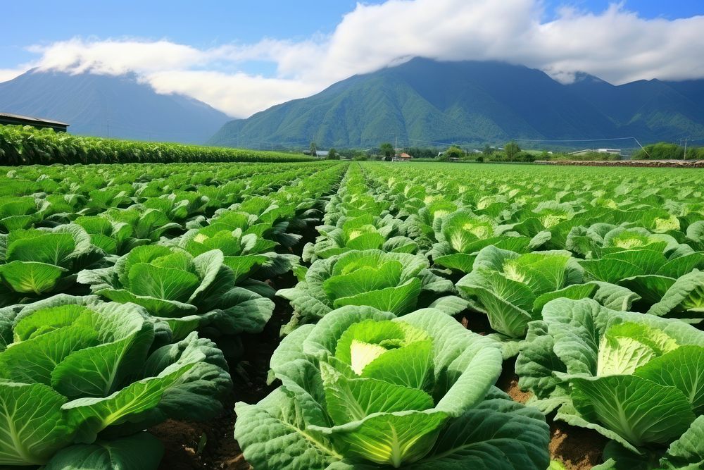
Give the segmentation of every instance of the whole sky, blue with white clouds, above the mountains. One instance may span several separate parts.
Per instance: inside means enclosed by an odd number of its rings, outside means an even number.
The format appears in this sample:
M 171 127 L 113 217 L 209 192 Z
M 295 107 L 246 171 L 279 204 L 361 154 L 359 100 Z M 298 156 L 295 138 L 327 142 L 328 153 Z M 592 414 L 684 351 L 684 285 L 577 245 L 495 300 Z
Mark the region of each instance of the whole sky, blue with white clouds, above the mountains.
M 238 117 L 410 56 L 704 78 L 703 0 L 6 1 L 0 22 L 0 82 L 132 72 Z

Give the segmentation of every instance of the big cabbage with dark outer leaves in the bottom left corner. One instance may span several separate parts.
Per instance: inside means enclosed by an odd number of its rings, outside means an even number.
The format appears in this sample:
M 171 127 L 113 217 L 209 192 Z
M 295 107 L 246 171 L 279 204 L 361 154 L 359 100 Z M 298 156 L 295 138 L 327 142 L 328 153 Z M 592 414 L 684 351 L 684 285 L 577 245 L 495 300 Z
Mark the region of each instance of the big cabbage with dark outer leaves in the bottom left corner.
M 3 466 L 154 468 L 163 447 L 142 429 L 211 419 L 232 386 L 213 342 L 175 342 L 134 304 L 57 295 L 0 309 L 0 328 Z

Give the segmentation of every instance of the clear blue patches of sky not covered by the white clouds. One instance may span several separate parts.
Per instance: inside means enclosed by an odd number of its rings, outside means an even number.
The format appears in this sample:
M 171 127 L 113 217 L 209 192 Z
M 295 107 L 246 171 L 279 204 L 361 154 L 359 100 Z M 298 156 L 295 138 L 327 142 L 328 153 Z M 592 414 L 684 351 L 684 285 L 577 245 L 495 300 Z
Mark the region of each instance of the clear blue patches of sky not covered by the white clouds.
M 494 0 L 501 1 L 501 0 Z M 43 3 L 43 2 L 42 2 Z M 195 47 L 212 47 L 232 42 L 251 43 L 263 37 L 305 39 L 332 33 L 345 13 L 353 11 L 351 0 L 67 0 L 40 3 L 31 9 L 27 27 L 27 4 L 6 2 L 3 9 L 3 44 L 0 68 L 12 68 L 30 61 L 26 50 L 34 44 L 71 37 L 101 39 L 140 37 L 170 39 Z M 365 0 L 381 4 L 383 0 Z M 558 8 L 572 6 L 582 11 L 601 12 L 612 0 L 547 0 L 545 19 Z M 704 15 L 702 0 L 630 0 L 624 6 L 643 18 L 687 18 Z M 51 5 L 51 7 L 49 6 Z M 268 71 L 265 63 L 248 64 L 247 70 Z

